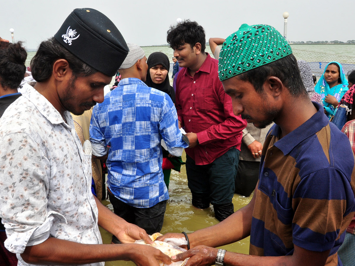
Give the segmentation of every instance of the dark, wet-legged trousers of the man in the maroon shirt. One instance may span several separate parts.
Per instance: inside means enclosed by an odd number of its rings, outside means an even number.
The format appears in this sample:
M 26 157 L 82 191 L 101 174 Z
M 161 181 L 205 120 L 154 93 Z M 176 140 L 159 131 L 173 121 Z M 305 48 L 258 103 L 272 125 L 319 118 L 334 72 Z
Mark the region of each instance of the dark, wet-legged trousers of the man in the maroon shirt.
M 239 153 L 238 149 L 230 149 L 208 165 L 196 165 L 195 161 L 186 155 L 186 173 L 192 205 L 198 209 L 206 209 L 211 203 L 216 218 L 220 221 L 234 212 L 232 198 Z M 218 209 L 222 209 L 223 214 L 217 214 Z

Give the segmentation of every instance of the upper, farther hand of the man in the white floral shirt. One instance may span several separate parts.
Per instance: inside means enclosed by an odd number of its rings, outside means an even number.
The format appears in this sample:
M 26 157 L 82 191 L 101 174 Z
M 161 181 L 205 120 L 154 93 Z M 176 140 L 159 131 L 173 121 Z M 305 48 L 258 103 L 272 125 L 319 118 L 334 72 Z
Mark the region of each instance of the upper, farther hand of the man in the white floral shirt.
M 115 233 L 115 236 L 121 243 L 133 243 L 140 239 L 143 239 L 147 244 L 152 243 L 152 239 L 144 229 L 127 222 L 120 226 L 119 231 Z

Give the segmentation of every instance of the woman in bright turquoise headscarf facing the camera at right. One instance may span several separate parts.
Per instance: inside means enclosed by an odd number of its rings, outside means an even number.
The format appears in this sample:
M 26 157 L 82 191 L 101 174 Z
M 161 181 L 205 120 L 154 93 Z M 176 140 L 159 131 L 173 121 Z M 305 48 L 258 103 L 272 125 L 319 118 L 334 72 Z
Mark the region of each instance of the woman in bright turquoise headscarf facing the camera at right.
M 314 89 L 322 97 L 324 113 L 331 118 L 340 99 L 348 90 L 348 81 L 342 65 L 338 62 L 328 63 Z

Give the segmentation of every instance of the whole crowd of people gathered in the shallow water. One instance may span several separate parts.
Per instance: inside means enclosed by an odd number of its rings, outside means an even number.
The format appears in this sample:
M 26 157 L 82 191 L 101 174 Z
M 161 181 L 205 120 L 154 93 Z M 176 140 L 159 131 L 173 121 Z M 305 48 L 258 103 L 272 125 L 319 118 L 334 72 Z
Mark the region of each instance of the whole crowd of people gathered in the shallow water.
M 166 38 L 173 86 L 164 53 L 147 59 L 94 9 L 70 13 L 31 73 L 23 44 L 0 38 L 4 265 L 355 265 L 355 71 L 330 62 L 315 82 L 264 24 L 210 38 L 215 59 L 195 21 Z M 103 162 L 113 212 L 100 202 Z M 162 229 L 184 164 L 191 204 L 220 222 L 158 237 L 187 240 L 169 257 L 134 242 Z M 234 193 L 253 191 L 234 212 Z M 249 235 L 250 255 L 216 248 Z

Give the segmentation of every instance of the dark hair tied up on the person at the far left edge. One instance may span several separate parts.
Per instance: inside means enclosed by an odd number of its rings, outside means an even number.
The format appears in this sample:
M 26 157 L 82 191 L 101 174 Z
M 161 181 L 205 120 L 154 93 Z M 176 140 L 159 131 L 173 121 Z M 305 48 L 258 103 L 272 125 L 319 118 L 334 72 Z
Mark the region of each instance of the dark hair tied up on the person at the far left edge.
M 5 44 L 7 48 L 0 49 L 0 84 L 5 89 L 17 89 L 26 73 L 27 52 L 21 41 Z

